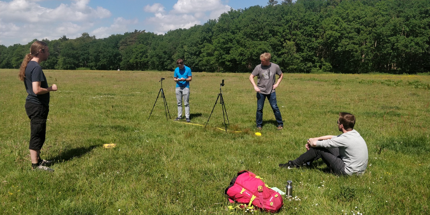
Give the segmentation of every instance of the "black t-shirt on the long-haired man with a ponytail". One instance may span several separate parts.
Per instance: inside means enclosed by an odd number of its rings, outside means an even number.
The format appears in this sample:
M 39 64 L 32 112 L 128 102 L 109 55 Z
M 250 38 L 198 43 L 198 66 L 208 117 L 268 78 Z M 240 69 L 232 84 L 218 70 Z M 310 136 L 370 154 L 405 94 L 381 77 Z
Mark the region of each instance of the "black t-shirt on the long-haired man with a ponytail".
M 25 79 L 24 85 L 27 90 L 28 96 L 25 100 L 31 101 L 34 104 L 43 104 L 49 106 L 49 92 L 36 95 L 33 92 L 33 82 L 40 81 L 41 88 L 48 88 L 48 82 L 46 81 L 45 74 L 43 74 L 42 68 L 36 61 L 29 61 L 27 68 L 25 68 Z

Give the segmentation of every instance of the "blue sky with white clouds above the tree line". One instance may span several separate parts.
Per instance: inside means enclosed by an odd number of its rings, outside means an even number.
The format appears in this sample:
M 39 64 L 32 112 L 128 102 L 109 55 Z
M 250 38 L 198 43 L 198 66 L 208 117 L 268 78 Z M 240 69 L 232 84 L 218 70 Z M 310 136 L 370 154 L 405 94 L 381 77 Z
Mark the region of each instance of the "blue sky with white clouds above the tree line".
M 233 9 L 266 6 L 267 0 L 0 0 L 0 44 L 33 39 L 74 39 L 83 32 L 96 38 L 145 30 L 202 25 Z M 279 3 L 282 0 L 278 0 Z

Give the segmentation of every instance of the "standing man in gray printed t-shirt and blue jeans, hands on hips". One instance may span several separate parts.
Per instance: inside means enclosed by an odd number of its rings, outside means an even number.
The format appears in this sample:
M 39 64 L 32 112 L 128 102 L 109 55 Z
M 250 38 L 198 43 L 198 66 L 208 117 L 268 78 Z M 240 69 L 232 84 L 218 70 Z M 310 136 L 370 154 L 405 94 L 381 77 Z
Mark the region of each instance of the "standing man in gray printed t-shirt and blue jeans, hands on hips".
M 278 130 L 283 129 L 284 123 L 281 117 L 281 111 L 279 111 L 278 104 L 276 102 L 275 88 L 279 86 L 283 79 L 281 69 L 277 64 L 270 62 L 270 53 L 263 53 L 260 55 L 261 64 L 254 68 L 252 74 L 249 76 L 252 86 L 254 86 L 255 92 L 257 92 L 257 113 L 255 117 L 255 123 L 257 129 L 261 130 L 263 123 L 263 107 L 266 98 L 269 100 L 270 106 L 272 107 L 273 114 L 275 114 L 276 122 L 278 123 Z M 278 75 L 278 81 L 275 83 L 275 75 Z M 257 76 L 257 84 L 255 84 L 254 77 Z

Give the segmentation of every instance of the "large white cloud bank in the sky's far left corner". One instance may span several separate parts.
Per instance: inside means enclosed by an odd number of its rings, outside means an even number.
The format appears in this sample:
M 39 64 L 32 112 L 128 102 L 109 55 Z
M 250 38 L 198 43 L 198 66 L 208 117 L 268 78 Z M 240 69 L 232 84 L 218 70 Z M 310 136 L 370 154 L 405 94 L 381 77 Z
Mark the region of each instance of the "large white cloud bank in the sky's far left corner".
M 80 37 L 83 32 L 92 31 L 91 28 L 94 28 L 95 24 L 112 15 L 103 7 L 92 8 L 89 6 L 89 0 L 62 1 L 63 3 L 55 8 L 43 7 L 40 5 L 40 1 L 0 1 L 1 44 L 7 46 L 13 43 L 27 44 L 33 39 L 56 40 L 63 35 L 69 38 Z M 121 22 L 119 20 L 121 18 L 115 19 L 114 22 Z M 122 30 L 127 24 L 126 21 L 122 22 L 121 28 L 120 26 L 115 27 L 115 25 L 121 24 L 114 23 L 108 29 Z M 101 32 L 101 30 L 99 31 Z

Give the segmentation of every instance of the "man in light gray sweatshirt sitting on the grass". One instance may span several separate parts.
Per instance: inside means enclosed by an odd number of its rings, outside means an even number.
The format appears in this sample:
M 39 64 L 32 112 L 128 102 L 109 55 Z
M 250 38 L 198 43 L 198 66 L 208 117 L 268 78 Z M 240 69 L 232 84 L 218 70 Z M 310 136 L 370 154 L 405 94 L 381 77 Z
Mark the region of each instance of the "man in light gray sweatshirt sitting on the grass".
M 341 135 L 310 138 L 305 145 L 307 151 L 304 154 L 296 160 L 279 164 L 279 167 L 298 168 L 321 158 L 335 174 L 361 175 L 367 167 L 368 152 L 364 139 L 353 129 L 354 125 L 353 114 L 339 113 L 338 128 Z

